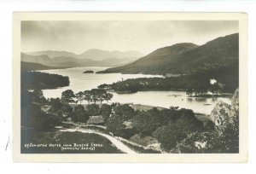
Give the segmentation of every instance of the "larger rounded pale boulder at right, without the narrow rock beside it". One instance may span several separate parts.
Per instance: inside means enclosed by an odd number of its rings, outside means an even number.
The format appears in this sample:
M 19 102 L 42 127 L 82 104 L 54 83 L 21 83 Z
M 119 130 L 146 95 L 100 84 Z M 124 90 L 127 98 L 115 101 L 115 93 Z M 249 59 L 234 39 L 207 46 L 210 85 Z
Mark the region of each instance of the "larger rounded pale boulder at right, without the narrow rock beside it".
M 213 108 L 210 119 L 217 125 L 226 125 L 229 122 L 231 115 L 231 106 L 225 102 L 218 102 Z

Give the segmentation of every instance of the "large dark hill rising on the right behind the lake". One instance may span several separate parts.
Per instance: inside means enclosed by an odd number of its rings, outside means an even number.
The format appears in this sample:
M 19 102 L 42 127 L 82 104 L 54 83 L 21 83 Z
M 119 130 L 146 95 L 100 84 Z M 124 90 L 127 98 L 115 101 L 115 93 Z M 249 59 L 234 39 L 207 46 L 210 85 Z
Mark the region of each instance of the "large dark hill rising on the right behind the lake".
M 198 69 L 218 68 L 238 62 L 239 34 L 216 38 L 201 46 L 183 43 L 156 49 L 122 67 L 98 73 L 193 73 Z

